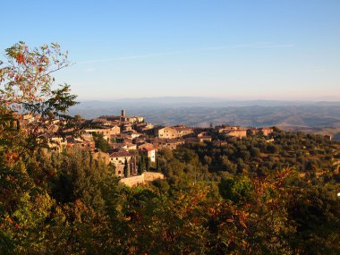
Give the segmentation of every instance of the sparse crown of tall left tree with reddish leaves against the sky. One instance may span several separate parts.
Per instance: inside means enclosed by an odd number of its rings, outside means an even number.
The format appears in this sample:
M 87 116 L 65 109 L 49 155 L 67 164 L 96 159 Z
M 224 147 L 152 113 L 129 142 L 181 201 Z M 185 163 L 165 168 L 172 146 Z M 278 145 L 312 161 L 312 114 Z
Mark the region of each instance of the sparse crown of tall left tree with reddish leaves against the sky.
M 15 147 L 8 143 L 11 138 L 20 143 L 21 149 L 32 152 L 51 134 L 62 132 L 73 122 L 66 114 L 70 106 L 77 104 L 76 96 L 70 94 L 69 85 L 56 86 L 52 76 L 70 65 L 68 53 L 55 43 L 30 49 L 19 42 L 5 49 L 5 58 L 5 62 L 0 61 L 0 126 L 4 129 L 0 140 L 7 149 Z M 4 128 L 8 126 L 4 122 L 17 120 L 16 113 L 33 117 L 26 123 L 25 132 Z M 4 151 L 0 157 L 5 157 Z

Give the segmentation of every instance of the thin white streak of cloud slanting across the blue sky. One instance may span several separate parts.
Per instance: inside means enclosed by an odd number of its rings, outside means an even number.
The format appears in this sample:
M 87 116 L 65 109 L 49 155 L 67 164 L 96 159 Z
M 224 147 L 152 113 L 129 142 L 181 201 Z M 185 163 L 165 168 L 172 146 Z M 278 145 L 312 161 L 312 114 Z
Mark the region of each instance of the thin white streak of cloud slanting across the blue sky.
M 119 56 L 113 58 L 102 58 L 102 59 L 92 59 L 88 61 L 82 61 L 79 64 L 94 64 L 94 63 L 103 63 L 103 62 L 112 62 L 112 61 L 121 61 L 121 60 L 131 60 L 131 59 L 138 59 L 138 58 L 149 58 L 149 57 L 157 57 L 157 56 L 164 56 L 164 55 L 183 55 L 188 53 L 195 53 L 195 52 L 205 52 L 205 51 L 219 51 L 225 50 L 230 48 L 272 48 L 272 47 L 294 47 L 293 44 L 272 44 L 272 43 L 258 43 L 258 44 L 240 44 L 240 45 L 230 45 L 230 46 L 220 46 L 220 47 L 202 47 L 202 48 L 195 48 L 195 49 L 188 49 L 182 51 L 169 51 L 163 53 L 156 53 L 156 54 L 146 54 L 146 55 L 128 55 L 128 56 Z

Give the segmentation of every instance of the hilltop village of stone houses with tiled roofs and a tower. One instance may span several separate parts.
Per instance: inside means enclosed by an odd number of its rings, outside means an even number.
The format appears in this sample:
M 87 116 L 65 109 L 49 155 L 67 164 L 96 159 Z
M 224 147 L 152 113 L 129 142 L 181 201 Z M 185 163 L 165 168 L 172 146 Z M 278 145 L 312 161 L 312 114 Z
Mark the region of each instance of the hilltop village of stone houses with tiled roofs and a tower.
M 24 125 L 34 122 L 34 116 L 21 116 L 21 122 Z M 57 124 L 55 123 L 56 126 Z M 55 151 L 87 149 L 91 151 L 93 158 L 115 166 L 115 174 L 122 178 L 140 174 L 140 157 L 147 158 L 151 165 L 155 164 L 159 149 L 176 149 L 184 143 L 212 141 L 213 133 L 242 139 L 251 134 L 268 136 L 273 132 L 272 128 L 230 125 L 215 128 L 194 128 L 183 124 L 157 126 L 146 123 L 142 116 L 126 116 L 125 110 L 121 111 L 121 115 L 81 120 L 81 126 L 78 136 L 72 135 L 72 130 L 69 130 L 64 136 L 49 137 L 48 147 Z M 96 148 L 95 140 L 98 135 L 107 141 L 110 148 L 107 152 Z

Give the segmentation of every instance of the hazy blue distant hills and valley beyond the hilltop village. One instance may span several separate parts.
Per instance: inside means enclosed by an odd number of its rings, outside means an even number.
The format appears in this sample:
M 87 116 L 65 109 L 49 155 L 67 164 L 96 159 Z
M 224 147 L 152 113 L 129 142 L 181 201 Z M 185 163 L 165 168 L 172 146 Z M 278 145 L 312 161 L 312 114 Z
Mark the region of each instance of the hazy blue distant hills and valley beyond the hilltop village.
M 72 115 L 143 115 L 149 123 L 207 127 L 209 123 L 242 126 L 279 126 L 287 130 L 337 135 L 340 102 L 232 101 L 220 98 L 127 98 L 115 101 L 84 101 Z

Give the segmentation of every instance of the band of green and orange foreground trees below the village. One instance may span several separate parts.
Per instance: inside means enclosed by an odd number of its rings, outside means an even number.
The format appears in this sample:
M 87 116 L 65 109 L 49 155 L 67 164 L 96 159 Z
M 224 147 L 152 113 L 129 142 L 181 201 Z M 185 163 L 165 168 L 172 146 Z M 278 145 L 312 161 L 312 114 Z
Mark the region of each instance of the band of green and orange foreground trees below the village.
M 159 160 L 167 179 L 136 189 L 83 150 L 19 160 L 1 183 L 2 253 L 339 252 L 338 174 L 203 173 L 186 148 Z

